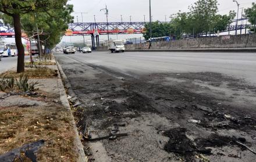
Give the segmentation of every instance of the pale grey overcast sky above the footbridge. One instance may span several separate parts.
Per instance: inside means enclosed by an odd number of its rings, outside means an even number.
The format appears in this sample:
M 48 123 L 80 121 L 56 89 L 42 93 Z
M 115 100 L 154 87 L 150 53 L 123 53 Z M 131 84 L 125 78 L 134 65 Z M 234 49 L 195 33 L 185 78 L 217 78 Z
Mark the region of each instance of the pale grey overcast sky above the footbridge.
M 179 10 L 187 11 L 187 6 L 197 0 L 151 0 L 153 20 L 165 20 L 167 15 L 179 12 Z M 242 8 L 248 8 L 255 0 L 237 0 Z M 219 13 L 229 13 L 229 10 L 237 10 L 237 5 L 232 0 L 219 0 Z M 100 9 L 107 5 L 109 9 L 109 21 L 120 21 L 120 15 L 123 15 L 123 21 L 144 21 L 144 16 L 149 20 L 149 0 L 70 0 L 69 3 L 74 5 L 74 12 L 87 12 L 83 14 L 84 22 L 93 22 L 94 15 L 96 21 L 105 22 L 104 12 Z M 73 13 L 76 22 L 76 16 L 81 21 L 81 13 Z

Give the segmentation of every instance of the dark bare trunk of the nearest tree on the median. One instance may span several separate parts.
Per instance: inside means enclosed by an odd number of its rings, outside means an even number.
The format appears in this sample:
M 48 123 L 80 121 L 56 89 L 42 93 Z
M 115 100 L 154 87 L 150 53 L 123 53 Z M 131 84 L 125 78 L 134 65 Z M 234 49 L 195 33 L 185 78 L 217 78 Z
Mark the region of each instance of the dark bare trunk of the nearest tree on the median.
M 15 31 L 15 42 L 18 51 L 18 61 L 17 61 L 17 73 L 23 73 L 24 69 L 24 46 L 22 44 L 22 26 L 20 24 L 20 15 L 15 14 L 13 17 L 14 31 Z

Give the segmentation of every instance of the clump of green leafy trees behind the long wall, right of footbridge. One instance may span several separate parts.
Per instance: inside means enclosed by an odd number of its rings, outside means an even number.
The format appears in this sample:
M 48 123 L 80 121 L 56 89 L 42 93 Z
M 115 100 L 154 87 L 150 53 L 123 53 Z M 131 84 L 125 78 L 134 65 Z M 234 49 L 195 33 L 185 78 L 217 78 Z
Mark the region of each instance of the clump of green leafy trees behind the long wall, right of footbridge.
M 183 34 L 199 37 L 209 33 L 209 30 L 210 32 L 225 30 L 236 15 L 234 11 L 230 11 L 229 15 L 218 15 L 217 0 L 198 0 L 189 6 L 189 10 L 187 13 L 179 11 L 171 17 L 172 21 L 168 24 L 153 23 L 152 34 L 157 37 L 175 35 L 177 39 L 182 38 Z M 146 24 L 145 28 L 148 29 L 149 24 Z M 148 30 L 144 37 L 149 38 Z

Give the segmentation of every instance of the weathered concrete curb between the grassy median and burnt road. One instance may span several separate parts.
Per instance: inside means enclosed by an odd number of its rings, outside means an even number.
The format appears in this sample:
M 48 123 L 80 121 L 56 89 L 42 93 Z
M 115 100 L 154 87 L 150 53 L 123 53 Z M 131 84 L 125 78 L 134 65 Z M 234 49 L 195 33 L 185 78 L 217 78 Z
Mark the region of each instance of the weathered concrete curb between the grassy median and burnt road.
M 62 102 L 63 106 L 65 106 L 67 109 L 70 110 L 70 113 L 71 113 L 70 115 L 72 116 L 71 122 L 73 125 L 74 132 L 76 134 L 76 136 L 74 137 L 74 146 L 75 146 L 76 152 L 78 154 L 77 161 L 87 162 L 88 158 L 87 158 L 86 154 L 84 154 L 83 144 L 81 143 L 80 138 L 79 138 L 79 133 L 76 128 L 76 123 L 74 121 L 74 117 L 73 117 L 72 110 L 69 105 L 69 101 L 67 100 L 64 85 L 65 85 L 65 87 L 69 87 L 68 89 L 70 89 L 70 91 L 72 91 L 72 89 L 70 87 L 69 81 L 67 81 L 67 77 L 66 77 L 65 73 L 63 72 L 62 67 L 59 65 L 58 61 L 55 60 L 55 62 L 56 62 L 56 66 L 59 69 L 58 85 L 59 85 L 59 89 L 60 89 L 59 94 L 61 95 L 61 102 Z M 64 83 L 64 85 L 63 85 L 63 83 Z M 72 95 L 72 93 L 74 94 L 73 91 L 69 92 L 70 95 Z

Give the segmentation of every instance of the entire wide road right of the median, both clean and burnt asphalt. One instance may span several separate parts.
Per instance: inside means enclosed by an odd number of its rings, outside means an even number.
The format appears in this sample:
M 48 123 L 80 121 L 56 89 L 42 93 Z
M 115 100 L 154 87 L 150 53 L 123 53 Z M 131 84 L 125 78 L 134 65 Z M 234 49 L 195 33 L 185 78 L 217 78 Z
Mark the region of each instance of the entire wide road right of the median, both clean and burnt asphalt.
M 256 148 L 255 53 L 55 56 L 81 103 L 73 111 L 79 131 L 128 134 L 83 141 L 91 161 L 255 160 L 234 143 Z

